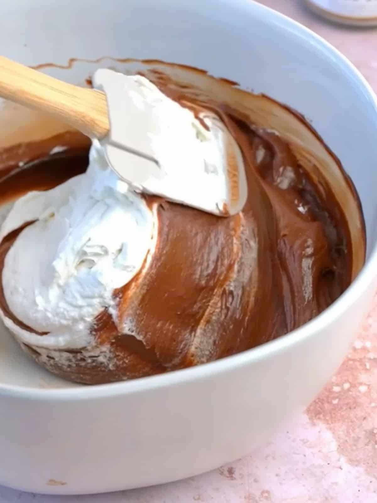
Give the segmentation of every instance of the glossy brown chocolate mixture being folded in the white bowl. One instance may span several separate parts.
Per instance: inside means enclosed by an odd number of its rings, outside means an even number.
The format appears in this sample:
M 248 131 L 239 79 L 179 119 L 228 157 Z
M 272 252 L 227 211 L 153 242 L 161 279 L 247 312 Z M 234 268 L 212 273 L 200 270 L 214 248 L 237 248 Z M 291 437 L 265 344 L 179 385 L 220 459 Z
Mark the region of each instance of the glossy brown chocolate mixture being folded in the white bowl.
M 289 145 L 229 107 L 188 100 L 169 86 L 162 90 L 195 112 L 206 106 L 222 118 L 244 155 L 248 200 L 242 213 L 218 218 L 147 197 L 158 205 L 156 249 L 115 292 L 117 324 L 104 311 L 93 325 L 95 344 L 107 348 L 111 365 L 85 356 L 85 349 L 66 352 L 71 363 L 62 365 L 53 352 L 46 360 L 30 348 L 37 361 L 71 380 L 135 378 L 244 351 L 301 326 L 351 281 L 343 211 L 331 188 L 323 181 L 315 185 Z M 82 151 L 34 164 L 22 172 L 22 191 L 57 185 L 83 172 L 86 162 Z M 0 202 L 6 193 L 20 195 L 19 179 L 0 183 Z M 0 270 L 14 239 L 8 236 L 0 246 Z M 0 294 L 0 307 L 22 326 Z

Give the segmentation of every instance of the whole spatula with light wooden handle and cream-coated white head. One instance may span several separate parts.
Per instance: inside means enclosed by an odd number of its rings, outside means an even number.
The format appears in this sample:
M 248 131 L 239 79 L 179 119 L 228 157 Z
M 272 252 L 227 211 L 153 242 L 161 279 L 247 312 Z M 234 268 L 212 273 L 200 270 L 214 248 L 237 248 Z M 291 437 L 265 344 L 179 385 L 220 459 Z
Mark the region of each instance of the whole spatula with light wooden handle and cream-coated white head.
M 243 208 L 242 153 L 216 115 L 206 112 L 203 127 L 140 76 L 100 69 L 93 86 L 73 86 L 0 56 L 1 97 L 99 139 L 112 169 L 135 190 L 220 216 Z

